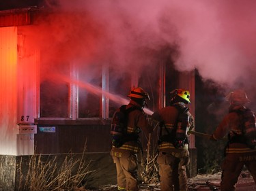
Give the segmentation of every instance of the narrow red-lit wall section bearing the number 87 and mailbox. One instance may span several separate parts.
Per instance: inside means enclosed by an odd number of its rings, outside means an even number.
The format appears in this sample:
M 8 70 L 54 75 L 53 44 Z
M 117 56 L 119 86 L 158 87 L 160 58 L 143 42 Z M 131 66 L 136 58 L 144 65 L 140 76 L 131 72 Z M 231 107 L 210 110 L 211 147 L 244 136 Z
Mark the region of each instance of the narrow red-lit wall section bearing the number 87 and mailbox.
M 31 27 L 18 27 L 18 60 L 17 60 L 17 155 L 33 154 L 34 124 L 38 88 L 38 48 L 31 44 L 29 31 Z

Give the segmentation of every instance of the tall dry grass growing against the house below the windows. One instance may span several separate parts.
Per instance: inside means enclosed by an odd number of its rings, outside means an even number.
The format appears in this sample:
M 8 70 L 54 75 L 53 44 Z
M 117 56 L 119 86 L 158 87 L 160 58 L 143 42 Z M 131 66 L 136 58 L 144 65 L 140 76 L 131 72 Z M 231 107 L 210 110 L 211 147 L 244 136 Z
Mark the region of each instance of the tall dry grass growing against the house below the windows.
M 64 156 L 43 155 L 29 156 L 27 169 L 23 158 L 18 165 L 20 191 L 54 191 L 54 190 L 85 190 L 86 178 L 89 173 L 90 161 L 85 160 L 85 153 L 67 154 Z

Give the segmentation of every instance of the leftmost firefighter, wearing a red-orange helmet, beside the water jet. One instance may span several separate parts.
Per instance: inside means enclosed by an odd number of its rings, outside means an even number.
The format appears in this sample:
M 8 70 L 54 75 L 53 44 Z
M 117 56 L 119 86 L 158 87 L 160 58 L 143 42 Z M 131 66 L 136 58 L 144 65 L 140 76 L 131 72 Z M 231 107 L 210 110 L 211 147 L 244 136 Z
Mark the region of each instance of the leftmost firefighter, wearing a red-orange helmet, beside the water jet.
M 111 134 L 113 135 L 111 156 L 116 164 L 118 190 L 137 191 L 139 190 L 137 154 L 141 152 L 139 133 L 141 130 L 145 133 L 151 133 L 153 130 L 143 112 L 145 101 L 150 97 L 141 87 L 131 90 L 128 97 L 130 98 L 130 103 L 117 109 L 113 116 L 111 124 Z M 119 114 L 120 109 L 124 110 L 124 116 L 127 118 L 122 125 L 115 122 L 115 119 L 122 118 L 122 115 Z M 118 127 L 125 128 L 125 131 L 120 131 Z

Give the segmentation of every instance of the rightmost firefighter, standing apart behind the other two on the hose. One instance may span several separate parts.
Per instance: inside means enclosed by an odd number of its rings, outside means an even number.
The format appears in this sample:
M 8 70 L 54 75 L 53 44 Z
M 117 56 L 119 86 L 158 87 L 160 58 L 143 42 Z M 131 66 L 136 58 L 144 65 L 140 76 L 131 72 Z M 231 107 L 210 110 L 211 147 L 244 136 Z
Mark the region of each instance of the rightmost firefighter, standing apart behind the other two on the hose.
M 235 90 L 227 95 L 229 113 L 223 118 L 214 131 L 211 139 L 223 139 L 227 135 L 225 159 L 221 165 L 221 190 L 233 191 L 236 189 L 238 177 L 245 165 L 256 183 L 256 149 L 250 136 L 246 138 L 246 128 L 255 133 L 255 115 L 245 105 L 251 101 L 244 90 Z M 248 143 L 251 140 L 251 143 Z

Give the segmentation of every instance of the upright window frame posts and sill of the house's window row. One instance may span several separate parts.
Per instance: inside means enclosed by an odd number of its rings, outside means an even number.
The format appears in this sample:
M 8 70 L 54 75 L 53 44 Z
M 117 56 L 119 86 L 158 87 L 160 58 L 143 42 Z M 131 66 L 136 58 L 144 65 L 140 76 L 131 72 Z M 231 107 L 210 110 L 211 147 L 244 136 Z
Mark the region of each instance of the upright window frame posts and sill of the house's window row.
M 158 106 L 165 106 L 165 63 L 162 63 L 159 67 L 159 98 L 157 100 Z M 109 65 L 102 65 L 102 92 L 109 93 Z M 106 94 L 101 94 L 100 101 L 100 116 L 97 118 L 79 118 L 79 69 L 74 64 L 70 64 L 70 77 L 72 82 L 69 84 L 69 117 L 68 118 L 42 118 L 40 117 L 40 109 L 38 109 L 37 122 L 40 124 L 100 124 L 104 123 L 102 120 L 111 120 L 109 118 L 109 98 Z M 135 73 L 131 74 L 130 88 L 138 86 L 139 76 Z M 40 84 L 40 83 L 39 83 Z M 40 86 L 40 85 L 39 85 Z M 40 88 L 39 90 L 40 91 Z M 40 92 L 38 92 L 40 104 Z M 161 98 L 161 99 L 160 99 Z M 40 108 L 40 105 L 38 105 Z

